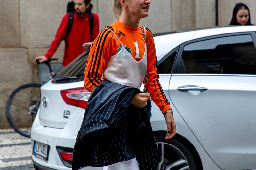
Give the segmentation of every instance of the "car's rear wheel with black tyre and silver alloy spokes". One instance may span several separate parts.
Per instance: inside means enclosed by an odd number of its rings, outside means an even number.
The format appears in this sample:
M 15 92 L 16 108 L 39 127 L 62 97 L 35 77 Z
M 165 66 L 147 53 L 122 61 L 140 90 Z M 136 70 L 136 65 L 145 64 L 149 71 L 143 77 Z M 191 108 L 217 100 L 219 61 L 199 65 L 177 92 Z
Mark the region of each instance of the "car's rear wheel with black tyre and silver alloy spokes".
M 189 149 L 172 138 L 165 140 L 164 136 L 156 136 L 159 149 L 158 170 L 196 170 L 196 163 Z

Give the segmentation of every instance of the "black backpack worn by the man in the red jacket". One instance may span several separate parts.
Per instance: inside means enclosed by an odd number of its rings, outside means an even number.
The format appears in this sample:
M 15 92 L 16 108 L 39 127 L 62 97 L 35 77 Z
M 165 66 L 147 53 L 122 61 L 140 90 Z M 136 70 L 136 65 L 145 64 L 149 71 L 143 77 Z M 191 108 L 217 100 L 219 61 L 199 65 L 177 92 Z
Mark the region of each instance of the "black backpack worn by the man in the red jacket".
M 93 39 L 92 39 L 93 14 L 91 13 L 92 7 L 93 7 L 92 4 L 90 4 L 90 8 L 88 9 L 91 41 L 93 41 Z M 67 13 L 69 12 L 69 16 L 68 16 L 68 27 L 67 27 L 65 40 L 66 40 L 66 38 L 67 38 L 67 36 L 68 36 L 68 34 L 71 30 L 71 27 L 73 25 L 74 11 L 75 11 L 74 2 L 73 1 L 68 2 L 68 4 L 67 4 Z M 66 43 L 66 46 L 68 47 L 67 43 Z

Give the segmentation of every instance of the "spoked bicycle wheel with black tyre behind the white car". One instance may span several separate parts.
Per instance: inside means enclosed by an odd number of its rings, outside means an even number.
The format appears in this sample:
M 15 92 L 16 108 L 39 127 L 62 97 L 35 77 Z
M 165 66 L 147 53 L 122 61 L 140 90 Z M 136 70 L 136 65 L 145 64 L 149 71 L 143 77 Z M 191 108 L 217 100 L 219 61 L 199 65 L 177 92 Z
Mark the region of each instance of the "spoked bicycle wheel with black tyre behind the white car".
M 30 137 L 30 128 L 40 107 L 39 83 L 28 83 L 15 89 L 7 100 L 5 112 L 11 127 Z

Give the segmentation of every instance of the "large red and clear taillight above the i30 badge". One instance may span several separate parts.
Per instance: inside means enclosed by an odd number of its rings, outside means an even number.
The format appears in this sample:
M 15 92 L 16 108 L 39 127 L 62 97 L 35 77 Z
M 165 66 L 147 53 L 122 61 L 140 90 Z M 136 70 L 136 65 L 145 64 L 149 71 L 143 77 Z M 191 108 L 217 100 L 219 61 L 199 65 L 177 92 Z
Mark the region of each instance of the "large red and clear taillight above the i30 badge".
M 91 95 L 91 92 L 85 90 L 83 87 L 61 90 L 60 93 L 67 104 L 84 109 L 86 108 L 87 100 Z

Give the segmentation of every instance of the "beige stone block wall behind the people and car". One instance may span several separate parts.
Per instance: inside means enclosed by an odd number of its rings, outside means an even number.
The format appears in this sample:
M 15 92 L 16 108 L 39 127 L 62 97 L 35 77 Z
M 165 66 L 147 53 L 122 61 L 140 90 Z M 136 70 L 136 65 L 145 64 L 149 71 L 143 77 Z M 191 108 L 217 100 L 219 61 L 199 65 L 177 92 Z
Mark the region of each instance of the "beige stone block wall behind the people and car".
M 0 10 L 0 128 L 9 128 L 5 104 L 10 93 L 24 83 L 39 82 L 36 56 L 44 55 L 66 13 L 70 0 L 1 0 Z M 255 0 L 243 0 L 256 24 Z M 112 0 L 91 0 L 92 12 L 100 19 L 100 30 L 114 20 Z M 151 1 L 149 16 L 140 21 L 152 33 L 215 26 L 216 0 Z M 233 7 L 240 0 L 218 0 L 220 26 L 228 25 Z M 62 62 L 65 43 L 53 55 Z

